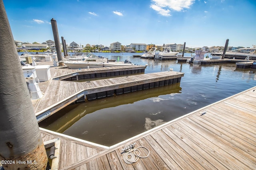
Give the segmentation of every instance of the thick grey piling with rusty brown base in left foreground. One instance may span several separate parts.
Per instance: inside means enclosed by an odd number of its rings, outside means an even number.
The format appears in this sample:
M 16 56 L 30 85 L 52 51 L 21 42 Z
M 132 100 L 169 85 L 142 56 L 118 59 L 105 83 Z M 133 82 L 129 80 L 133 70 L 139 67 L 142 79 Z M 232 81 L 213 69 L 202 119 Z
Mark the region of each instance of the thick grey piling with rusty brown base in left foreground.
M 1 161 L 4 170 L 45 170 L 48 158 L 3 0 L 0 30 L 0 160 L 9 161 Z

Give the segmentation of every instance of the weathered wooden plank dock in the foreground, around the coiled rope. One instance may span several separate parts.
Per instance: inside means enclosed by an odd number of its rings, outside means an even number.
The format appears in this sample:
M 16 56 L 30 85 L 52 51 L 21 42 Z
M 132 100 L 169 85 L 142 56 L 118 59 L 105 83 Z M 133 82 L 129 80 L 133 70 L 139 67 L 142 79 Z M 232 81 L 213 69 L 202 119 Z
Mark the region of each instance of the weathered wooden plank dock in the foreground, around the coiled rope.
M 256 167 L 256 86 L 111 147 L 40 129 L 44 141 L 59 138 L 59 170 L 246 169 Z M 150 154 L 123 160 L 130 143 Z M 141 156 L 148 152 L 141 149 Z

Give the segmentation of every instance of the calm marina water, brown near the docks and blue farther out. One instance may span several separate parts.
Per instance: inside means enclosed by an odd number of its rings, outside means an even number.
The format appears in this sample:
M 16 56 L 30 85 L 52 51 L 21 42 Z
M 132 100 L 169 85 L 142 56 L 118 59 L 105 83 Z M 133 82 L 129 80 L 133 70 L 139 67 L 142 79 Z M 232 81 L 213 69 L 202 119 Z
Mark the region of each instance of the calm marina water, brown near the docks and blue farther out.
M 256 86 L 256 72 L 236 70 L 235 64 L 199 66 L 132 57 L 136 53 L 99 54 L 148 64 L 145 73 L 173 68 L 185 74 L 178 84 L 72 104 L 40 122 L 40 127 L 111 146 Z

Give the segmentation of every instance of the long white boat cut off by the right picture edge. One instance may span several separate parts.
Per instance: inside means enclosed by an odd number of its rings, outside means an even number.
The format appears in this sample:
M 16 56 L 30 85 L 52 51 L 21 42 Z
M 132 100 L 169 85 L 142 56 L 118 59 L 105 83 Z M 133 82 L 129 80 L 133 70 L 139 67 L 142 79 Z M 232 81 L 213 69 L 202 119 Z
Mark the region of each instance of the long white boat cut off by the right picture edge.
M 223 52 L 211 53 L 212 59 L 221 59 Z M 241 48 L 225 53 L 225 57 L 228 59 L 247 59 L 247 60 L 256 60 L 256 48 Z

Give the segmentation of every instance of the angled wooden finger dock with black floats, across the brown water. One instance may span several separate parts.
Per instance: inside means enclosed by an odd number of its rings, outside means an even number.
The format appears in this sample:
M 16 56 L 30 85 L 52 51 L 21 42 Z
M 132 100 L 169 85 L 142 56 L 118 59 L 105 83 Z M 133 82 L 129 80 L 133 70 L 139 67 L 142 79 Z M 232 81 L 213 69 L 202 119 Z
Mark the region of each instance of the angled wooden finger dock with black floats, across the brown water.
M 138 67 L 135 68 L 138 69 Z M 103 70 L 102 68 L 95 69 Z M 105 71 L 106 69 L 108 70 L 108 68 L 104 69 Z M 119 69 L 124 68 L 118 67 L 115 72 L 120 71 Z M 140 69 L 142 69 L 141 66 Z M 98 72 L 97 70 L 95 71 Z M 62 75 L 66 75 L 69 72 L 69 75 L 74 76 L 74 74 L 77 74 L 76 72 L 78 70 L 72 71 L 73 73 L 70 72 L 70 69 L 53 68 L 53 70 L 51 70 L 52 75 L 54 76 L 58 75 L 60 72 Z M 81 70 L 81 72 L 83 71 L 86 70 Z M 91 72 L 92 70 L 87 71 Z M 64 74 L 64 72 L 66 72 L 66 74 Z M 60 74 L 58 76 L 60 76 Z M 184 73 L 166 71 L 149 74 L 128 74 L 122 77 L 105 78 L 87 82 L 49 80 L 47 84 L 44 82 L 42 83 L 42 89 L 44 89 L 43 97 L 36 102 L 33 102 L 36 118 L 38 121 L 42 121 L 46 117 L 49 117 L 77 100 L 84 100 L 85 98 L 87 100 L 93 100 L 96 98 L 113 96 L 114 94 L 123 94 L 148 88 L 166 86 L 168 84 L 175 84 L 180 82 L 182 76 L 184 76 Z M 41 88 L 41 83 L 39 86 Z

